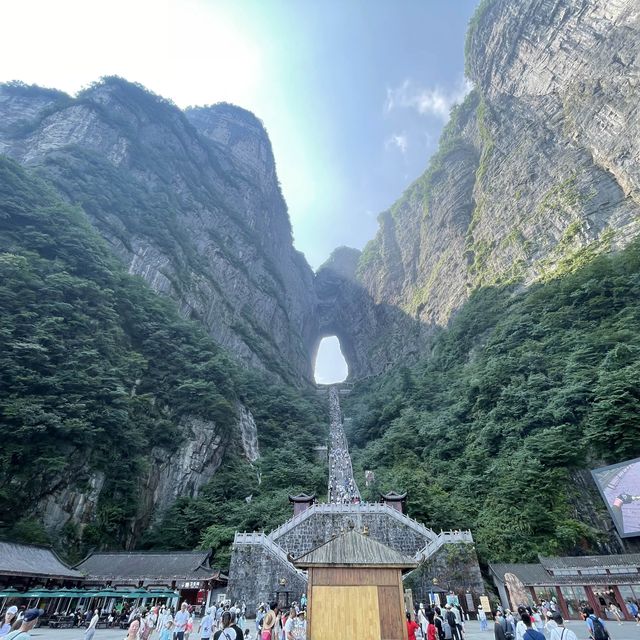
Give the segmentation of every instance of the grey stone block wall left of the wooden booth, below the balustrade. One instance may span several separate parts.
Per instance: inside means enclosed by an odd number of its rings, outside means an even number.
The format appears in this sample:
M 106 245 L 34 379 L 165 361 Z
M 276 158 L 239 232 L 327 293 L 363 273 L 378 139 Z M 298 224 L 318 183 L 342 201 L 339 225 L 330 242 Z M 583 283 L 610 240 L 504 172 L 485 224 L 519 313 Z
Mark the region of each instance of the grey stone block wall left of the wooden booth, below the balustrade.
M 286 584 L 279 586 L 280 578 Z M 272 602 L 279 590 L 289 591 L 290 600 L 300 601 L 307 591 L 307 580 L 285 560 L 261 544 L 234 544 L 229 566 L 227 597 L 244 600 L 250 614 L 261 602 Z

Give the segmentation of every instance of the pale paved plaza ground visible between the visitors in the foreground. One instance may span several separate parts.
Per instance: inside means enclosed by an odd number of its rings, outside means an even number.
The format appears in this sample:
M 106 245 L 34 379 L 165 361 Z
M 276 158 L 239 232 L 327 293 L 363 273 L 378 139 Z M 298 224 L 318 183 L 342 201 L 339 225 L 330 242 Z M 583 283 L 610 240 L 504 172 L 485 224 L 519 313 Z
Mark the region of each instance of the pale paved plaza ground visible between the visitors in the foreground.
M 253 620 L 246 625 L 251 629 L 251 638 L 255 639 L 255 625 Z M 567 624 L 578 636 L 578 640 L 587 640 L 588 634 L 584 622 L 570 620 Z M 608 623 L 607 627 L 612 640 L 640 640 L 640 627 L 635 622 L 624 622 L 622 625 Z M 197 626 L 196 626 L 197 628 Z M 477 622 L 467 622 L 465 625 L 465 640 L 493 640 L 493 626 L 489 624 L 489 631 L 482 633 Z M 126 631 L 122 629 L 98 629 L 93 640 L 123 640 Z M 53 638 L 53 640 L 83 640 L 82 629 L 49 629 L 42 627 L 31 632 L 33 638 Z M 157 634 L 151 636 L 151 640 L 158 640 Z M 191 640 L 198 640 L 196 634 L 191 634 Z M 342 640 L 342 639 L 337 639 Z M 357 640 L 354 638 L 353 640 Z

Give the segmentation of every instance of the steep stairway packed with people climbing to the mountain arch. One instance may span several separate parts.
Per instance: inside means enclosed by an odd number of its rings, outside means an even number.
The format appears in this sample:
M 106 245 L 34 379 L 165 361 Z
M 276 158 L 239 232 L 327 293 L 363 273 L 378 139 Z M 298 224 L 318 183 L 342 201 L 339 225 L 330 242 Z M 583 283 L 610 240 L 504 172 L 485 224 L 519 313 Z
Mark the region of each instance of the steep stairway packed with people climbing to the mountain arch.
M 359 503 L 360 491 L 353 477 L 337 387 L 329 389 L 329 419 L 329 502 Z

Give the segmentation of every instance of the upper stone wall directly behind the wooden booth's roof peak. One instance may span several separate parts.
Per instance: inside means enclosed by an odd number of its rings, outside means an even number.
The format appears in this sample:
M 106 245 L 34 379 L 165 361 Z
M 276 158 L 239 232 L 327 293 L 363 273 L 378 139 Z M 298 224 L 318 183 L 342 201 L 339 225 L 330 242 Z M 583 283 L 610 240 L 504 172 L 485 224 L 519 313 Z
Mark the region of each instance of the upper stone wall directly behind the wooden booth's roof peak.
M 317 511 L 290 531 L 274 537 L 273 541 L 294 558 L 298 558 L 331 540 L 351 523 L 357 531 L 362 531 L 367 526 L 371 538 L 408 556 L 415 555 L 429 541 L 426 535 L 421 535 L 390 514 L 371 513 L 358 507 L 347 512 Z

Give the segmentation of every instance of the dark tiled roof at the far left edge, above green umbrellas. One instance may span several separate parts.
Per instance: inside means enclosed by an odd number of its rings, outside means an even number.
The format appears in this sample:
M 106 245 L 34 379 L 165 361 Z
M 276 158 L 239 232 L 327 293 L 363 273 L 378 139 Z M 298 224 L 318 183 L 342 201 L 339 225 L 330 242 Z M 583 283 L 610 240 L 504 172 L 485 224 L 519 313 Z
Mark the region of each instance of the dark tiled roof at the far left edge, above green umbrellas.
M 49 547 L 0 541 L 0 575 L 81 579 Z

